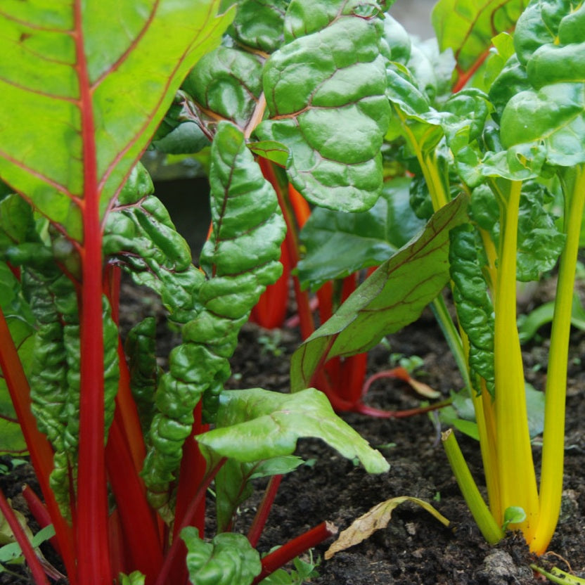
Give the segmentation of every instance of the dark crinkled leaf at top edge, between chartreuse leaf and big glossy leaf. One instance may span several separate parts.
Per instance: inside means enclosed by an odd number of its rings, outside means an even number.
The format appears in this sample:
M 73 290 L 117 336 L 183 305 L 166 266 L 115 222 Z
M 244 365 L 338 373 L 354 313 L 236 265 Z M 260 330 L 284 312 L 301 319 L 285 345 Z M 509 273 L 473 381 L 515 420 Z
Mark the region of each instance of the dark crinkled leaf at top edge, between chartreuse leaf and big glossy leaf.
M 290 0 L 240 0 L 230 33 L 238 43 L 272 53 L 284 40 L 284 15 Z

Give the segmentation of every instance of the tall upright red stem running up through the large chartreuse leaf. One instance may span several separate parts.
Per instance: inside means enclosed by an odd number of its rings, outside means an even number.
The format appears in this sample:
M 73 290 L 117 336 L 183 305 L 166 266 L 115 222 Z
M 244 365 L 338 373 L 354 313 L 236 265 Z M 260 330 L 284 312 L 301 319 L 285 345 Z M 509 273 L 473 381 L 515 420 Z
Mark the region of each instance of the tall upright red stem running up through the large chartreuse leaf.
M 111 583 L 108 544 L 108 491 L 105 484 L 102 250 L 100 191 L 94 104 L 82 26 L 82 0 L 75 0 L 75 53 L 83 141 L 84 188 L 77 476 L 77 576 L 83 585 Z

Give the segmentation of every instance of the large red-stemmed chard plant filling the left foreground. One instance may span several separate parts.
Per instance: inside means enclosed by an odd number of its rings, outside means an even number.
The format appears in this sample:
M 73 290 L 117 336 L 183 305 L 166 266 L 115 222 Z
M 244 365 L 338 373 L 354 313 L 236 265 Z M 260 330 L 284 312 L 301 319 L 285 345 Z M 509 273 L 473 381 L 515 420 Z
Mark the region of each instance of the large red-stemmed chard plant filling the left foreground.
M 332 531 L 318 525 L 262 560 L 255 549 L 279 478 L 301 463 L 297 439 L 387 470 L 313 388 L 224 390 L 238 330 L 281 274 L 283 185 L 333 209 L 378 198 L 382 23 L 373 1 L 1 6 L 3 449 L 29 452 L 44 502 L 30 489 L 27 501 L 53 525 L 71 584 L 269 583 Z M 211 142 L 199 267 L 139 162 L 151 141 Z M 181 333 L 166 371 L 152 318 L 120 338 L 121 271 Z M 248 536 L 236 534 L 255 477 L 272 479 Z M 218 534 L 206 539 L 211 482 Z

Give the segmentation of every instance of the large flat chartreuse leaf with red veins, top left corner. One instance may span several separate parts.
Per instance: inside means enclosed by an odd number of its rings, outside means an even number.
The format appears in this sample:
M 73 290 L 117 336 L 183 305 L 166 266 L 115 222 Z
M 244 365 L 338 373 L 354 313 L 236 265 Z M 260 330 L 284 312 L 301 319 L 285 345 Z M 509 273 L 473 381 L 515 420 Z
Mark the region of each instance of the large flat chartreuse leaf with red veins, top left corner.
M 84 193 L 98 193 L 103 215 L 182 79 L 233 17 L 216 18 L 219 4 L 4 3 L 2 179 L 82 240 Z

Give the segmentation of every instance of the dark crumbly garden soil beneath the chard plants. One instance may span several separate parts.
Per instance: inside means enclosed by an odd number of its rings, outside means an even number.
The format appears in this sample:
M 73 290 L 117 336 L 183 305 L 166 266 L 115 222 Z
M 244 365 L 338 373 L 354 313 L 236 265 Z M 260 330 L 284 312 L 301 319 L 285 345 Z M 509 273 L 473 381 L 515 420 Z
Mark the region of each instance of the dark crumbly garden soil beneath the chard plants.
M 131 300 L 134 296 L 131 288 L 124 288 L 124 296 L 130 297 L 125 310 L 128 322 L 136 322 L 144 311 L 151 313 L 155 310 L 152 304 L 147 304 L 146 309 L 143 303 L 135 304 Z M 162 321 L 163 336 L 165 327 Z M 547 332 L 543 333 L 546 337 Z M 159 347 L 161 355 L 167 353 L 162 347 L 168 344 L 167 340 L 165 334 Z M 450 390 L 461 387 L 454 360 L 430 313 L 423 314 L 417 323 L 401 333 L 390 335 L 388 340 L 390 350 L 380 345 L 371 352 L 370 373 L 387 369 L 391 352 L 420 356 L 423 366 L 416 372 L 419 380 L 439 390 L 445 397 Z M 288 360 L 298 342 L 295 329 L 266 332 L 252 323 L 246 325 L 233 359 L 229 387 L 264 387 L 286 392 Z M 583 359 L 585 334 L 575 331 L 567 392 L 563 511 L 548 557 L 561 569 L 572 569 L 581 577 L 585 576 L 585 435 L 581 423 L 585 418 Z M 546 369 L 546 343 L 525 348 L 525 366 L 529 382 L 541 388 Z M 420 397 L 409 387 L 392 380 L 376 382 L 366 400 L 372 406 L 392 410 L 420 405 Z M 307 465 L 284 477 L 259 542 L 261 551 L 283 544 L 323 520 L 333 522 L 342 530 L 381 501 L 394 496 L 416 496 L 430 501 L 451 520 L 451 527 L 444 527 L 413 504 L 401 504 L 387 528 L 338 553 L 331 560 L 324 561 L 322 557 L 333 539 L 317 547 L 313 554 L 314 559 L 319 560 L 319 577 L 313 577 L 310 582 L 316 585 L 529 585 L 541 582 L 529 567 L 534 559 L 520 537 L 509 534 L 498 546 L 488 546 L 482 539 L 446 461 L 436 416 L 424 414 L 402 419 L 378 419 L 346 413 L 342 418 L 371 445 L 380 448 L 390 462 L 390 471 L 384 475 L 368 475 L 319 441 L 300 442 L 298 454 Z M 467 437 L 458 436 L 458 439 L 473 475 L 482 484 L 478 444 Z M 540 448 L 535 442 L 536 461 L 539 456 Z M 9 475 L 0 475 L 0 487 L 7 496 L 13 497 L 15 507 L 23 508 L 21 496 L 18 496 L 20 485 L 32 480 L 30 467 L 23 465 Z M 248 529 L 264 485 L 262 481 L 258 482 L 257 491 L 243 507 L 236 530 L 245 532 Z M 50 546 L 45 548 L 49 559 L 56 563 Z M 541 564 L 544 560 L 541 559 Z M 0 584 L 31 582 L 24 574 L 23 577 L 17 579 L 0 574 Z

